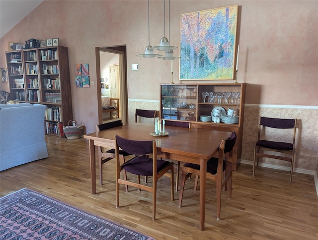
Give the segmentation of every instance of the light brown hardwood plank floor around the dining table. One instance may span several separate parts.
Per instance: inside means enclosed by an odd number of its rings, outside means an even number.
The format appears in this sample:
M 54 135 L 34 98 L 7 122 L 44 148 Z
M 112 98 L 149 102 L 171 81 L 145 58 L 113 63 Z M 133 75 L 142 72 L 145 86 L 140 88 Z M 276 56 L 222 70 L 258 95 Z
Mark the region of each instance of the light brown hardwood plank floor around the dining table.
M 100 186 L 96 176 L 97 194 L 92 195 L 88 141 L 52 136 L 46 136 L 46 141 L 48 158 L 0 172 L 1 197 L 26 187 L 157 240 L 318 239 L 318 197 L 312 175 L 294 173 L 290 184 L 288 172 L 258 167 L 252 177 L 252 166 L 241 164 L 233 173 L 232 199 L 223 192 L 220 221 L 216 220 L 215 184 L 208 180 L 205 231 L 200 231 L 195 178 L 186 181 L 182 208 L 178 208 L 178 192 L 171 202 L 169 179 L 162 177 L 157 219 L 152 221 L 152 197 L 146 191 L 130 187 L 126 193 L 122 186 L 121 207 L 116 209 L 115 161 L 104 164 L 104 184 Z

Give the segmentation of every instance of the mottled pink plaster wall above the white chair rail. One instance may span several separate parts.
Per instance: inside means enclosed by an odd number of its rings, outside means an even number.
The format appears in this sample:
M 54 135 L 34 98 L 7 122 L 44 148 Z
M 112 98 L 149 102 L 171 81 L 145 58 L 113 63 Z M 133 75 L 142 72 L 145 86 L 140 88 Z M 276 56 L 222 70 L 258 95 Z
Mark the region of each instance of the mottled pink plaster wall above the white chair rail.
M 170 44 L 179 46 L 180 14 L 234 4 L 241 13 L 238 82 L 247 83 L 245 103 L 317 106 L 318 1 L 172 0 Z M 155 46 L 163 36 L 163 3 L 151 0 L 150 8 L 150 41 Z M 148 45 L 147 10 L 145 0 L 45 0 L 0 39 L 0 67 L 5 67 L 8 41 L 57 37 L 69 48 L 71 81 L 75 64 L 88 63 L 90 80 L 96 82 L 95 47 L 126 44 L 128 97 L 159 100 L 159 84 L 171 81 L 170 61 L 136 57 Z M 167 36 L 167 25 L 165 30 Z M 139 71 L 131 70 L 133 63 Z M 173 72 L 178 83 L 177 61 Z M 0 86 L 8 90 L 7 84 Z M 87 132 L 98 121 L 96 92 L 96 84 L 72 84 L 73 115 Z

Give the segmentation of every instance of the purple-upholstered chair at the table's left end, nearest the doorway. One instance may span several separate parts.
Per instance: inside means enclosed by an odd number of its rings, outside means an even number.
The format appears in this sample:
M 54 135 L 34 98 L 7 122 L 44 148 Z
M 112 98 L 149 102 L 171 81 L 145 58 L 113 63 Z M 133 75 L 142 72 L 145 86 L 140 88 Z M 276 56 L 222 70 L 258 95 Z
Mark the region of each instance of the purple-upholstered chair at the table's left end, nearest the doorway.
M 109 128 L 113 128 L 116 126 L 122 126 L 122 120 L 110 121 L 103 124 L 96 125 L 96 133 L 99 131 L 106 130 Z M 115 158 L 115 148 L 105 149 L 104 147 L 98 146 L 98 166 L 99 166 L 99 183 L 103 185 L 103 164 L 108 162 L 109 160 Z M 130 154 L 125 151 L 120 151 L 120 161 L 121 163 L 125 162 L 125 156 L 129 156 Z M 124 179 L 127 179 L 126 171 L 123 171 Z M 128 186 L 126 185 L 126 192 L 128 192 Z

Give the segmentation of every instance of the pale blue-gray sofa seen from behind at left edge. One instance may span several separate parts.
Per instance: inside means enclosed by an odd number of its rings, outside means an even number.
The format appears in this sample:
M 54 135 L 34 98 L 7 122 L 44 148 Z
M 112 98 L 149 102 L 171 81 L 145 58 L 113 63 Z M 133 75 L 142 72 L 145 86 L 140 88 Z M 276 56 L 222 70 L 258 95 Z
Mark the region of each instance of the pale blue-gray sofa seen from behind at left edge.
M 45 105 L 0 104 L 0 171 L 48 157 Z

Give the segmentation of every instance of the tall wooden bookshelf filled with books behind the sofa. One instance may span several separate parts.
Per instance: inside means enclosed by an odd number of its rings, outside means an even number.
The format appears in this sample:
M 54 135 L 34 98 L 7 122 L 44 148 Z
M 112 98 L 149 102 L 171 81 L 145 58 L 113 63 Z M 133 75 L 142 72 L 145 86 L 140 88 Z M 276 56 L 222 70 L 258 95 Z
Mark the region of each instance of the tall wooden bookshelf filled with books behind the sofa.
M 45 132 L 64 137 L 73 119 L 68 48 L 40 47 L 5 52 L 11 100 L 47 106 Z

